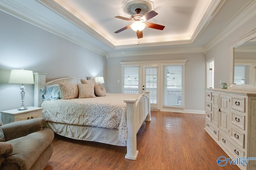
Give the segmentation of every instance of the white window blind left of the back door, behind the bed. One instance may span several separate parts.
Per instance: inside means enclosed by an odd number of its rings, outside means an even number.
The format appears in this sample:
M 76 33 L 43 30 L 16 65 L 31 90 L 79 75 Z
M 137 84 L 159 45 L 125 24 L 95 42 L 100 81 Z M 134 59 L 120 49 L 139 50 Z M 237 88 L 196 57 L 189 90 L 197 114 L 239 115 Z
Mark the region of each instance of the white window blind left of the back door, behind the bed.
M 139 66 L 122 66 L 122 93 L 138 94 L 140 85 Z

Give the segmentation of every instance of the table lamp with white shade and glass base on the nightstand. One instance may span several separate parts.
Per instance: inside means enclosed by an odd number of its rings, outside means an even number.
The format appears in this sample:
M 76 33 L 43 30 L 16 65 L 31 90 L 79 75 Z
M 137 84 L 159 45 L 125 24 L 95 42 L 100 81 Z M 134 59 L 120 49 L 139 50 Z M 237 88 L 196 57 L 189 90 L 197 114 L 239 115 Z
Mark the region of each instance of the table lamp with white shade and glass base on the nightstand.
M 28 107 L 24 106 L 25 87 L 24 84 L 34 84 L 33 71 L 30 70 L 11 70 L 8 83 L 22 84 L 20 87 L 21 107 L 18 110 L 26 110 Z

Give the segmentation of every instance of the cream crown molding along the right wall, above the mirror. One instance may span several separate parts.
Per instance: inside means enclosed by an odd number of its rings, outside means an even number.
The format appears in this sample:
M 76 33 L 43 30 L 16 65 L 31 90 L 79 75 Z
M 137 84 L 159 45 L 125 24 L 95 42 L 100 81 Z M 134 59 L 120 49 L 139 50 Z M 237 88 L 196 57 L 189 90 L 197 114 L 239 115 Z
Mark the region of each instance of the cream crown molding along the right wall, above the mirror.
M 242 26 L 246 21 L 256 15 L 256 1 L 251 0 L 242 11 L 239 11 L 230 22 L 212 40 L 205 45 L 205 53 L 225 39 L 230 33 Z

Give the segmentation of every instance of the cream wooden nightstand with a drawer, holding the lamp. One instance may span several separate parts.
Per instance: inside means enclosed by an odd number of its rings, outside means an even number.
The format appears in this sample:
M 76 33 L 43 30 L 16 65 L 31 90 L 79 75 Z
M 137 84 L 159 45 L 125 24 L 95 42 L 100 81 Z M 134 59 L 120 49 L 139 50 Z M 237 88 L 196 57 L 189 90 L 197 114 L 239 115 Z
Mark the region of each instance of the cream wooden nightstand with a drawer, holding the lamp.
M 3 124 L 11 123 L 14 121 L 21 121 L 27 119 L 33 119 L 37 117 L 42 117 L 43 108 L 42 107 L 28 107 L 26 110 L 6 110 L 1 111 Z

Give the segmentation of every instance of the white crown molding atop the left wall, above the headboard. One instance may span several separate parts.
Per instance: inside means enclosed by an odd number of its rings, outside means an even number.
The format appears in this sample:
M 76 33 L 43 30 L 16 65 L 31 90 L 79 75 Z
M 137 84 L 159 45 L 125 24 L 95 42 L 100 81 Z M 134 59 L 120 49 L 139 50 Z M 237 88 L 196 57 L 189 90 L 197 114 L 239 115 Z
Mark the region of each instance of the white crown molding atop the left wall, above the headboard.
M 10 1 L 10 0 L 1 0 L 0 1 L 0 10 L 6 12 L 16 18 L 24 20 L 32 25 L 36 25 L 46 31 L 49 31 L 55 35 L 58 35 L 64 39 L 72 41 L 82 47 L 85 47 L 95 53 L 103 55 L 104 57 L 108 57 L 108 52 L 100 49 L 98 46 L 90 43 L 86 39 L 82 39 L 80 36 L 76 35 L 75 33 L 60 27 L 59 25 L 55 24 L 54 22 L 32 12 L 31 10 L 25 8 L 24 6 L 18 4 L 17 2 Z

